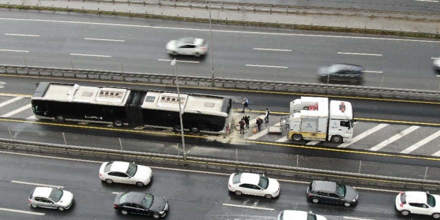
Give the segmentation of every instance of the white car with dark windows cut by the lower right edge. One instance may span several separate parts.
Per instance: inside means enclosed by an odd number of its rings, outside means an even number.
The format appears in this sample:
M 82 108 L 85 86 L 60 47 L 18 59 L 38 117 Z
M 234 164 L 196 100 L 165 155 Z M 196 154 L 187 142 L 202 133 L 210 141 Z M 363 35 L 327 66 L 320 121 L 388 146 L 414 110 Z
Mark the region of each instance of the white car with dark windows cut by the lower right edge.
M 440 195 L 422 191 L 402 191 L 395 197 L 395 208 L 402 215 L 425 214 L 440 218 Z

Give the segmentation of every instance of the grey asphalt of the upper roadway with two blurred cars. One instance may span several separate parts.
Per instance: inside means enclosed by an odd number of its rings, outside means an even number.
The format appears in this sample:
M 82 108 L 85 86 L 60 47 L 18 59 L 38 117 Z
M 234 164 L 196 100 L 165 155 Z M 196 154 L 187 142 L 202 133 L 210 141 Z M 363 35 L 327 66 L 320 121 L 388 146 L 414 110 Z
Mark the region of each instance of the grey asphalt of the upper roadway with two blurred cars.
M 2 64 L 318 83 L 319 66 L 365 67 L 363 85 L 437 90 L 439 40 L 213 25 L 213 54 L 169 56 L 182 36 L 209 39 L 208 24 L 0 9 Z M 383 81 L 382 81 L 383 80 Z

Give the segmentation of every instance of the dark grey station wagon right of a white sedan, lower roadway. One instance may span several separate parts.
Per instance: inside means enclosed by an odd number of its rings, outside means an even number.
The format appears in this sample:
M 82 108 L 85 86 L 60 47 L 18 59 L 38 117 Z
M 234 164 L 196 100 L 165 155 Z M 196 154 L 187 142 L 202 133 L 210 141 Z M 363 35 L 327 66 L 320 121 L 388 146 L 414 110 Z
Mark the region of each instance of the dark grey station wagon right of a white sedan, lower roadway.
M 351 206 L 357 203 L 357 190 L 332 181 L 313 180 L 307 187 L 307 200 Z

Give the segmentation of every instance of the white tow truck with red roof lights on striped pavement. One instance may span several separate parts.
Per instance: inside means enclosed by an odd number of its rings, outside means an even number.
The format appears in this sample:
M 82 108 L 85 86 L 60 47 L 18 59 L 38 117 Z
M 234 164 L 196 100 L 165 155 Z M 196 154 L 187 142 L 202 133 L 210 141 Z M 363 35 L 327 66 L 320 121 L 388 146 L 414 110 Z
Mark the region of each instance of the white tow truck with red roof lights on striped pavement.
M 348 101 L 301 97 L 290 102 L 289 114 L 284 118 L 289 139 L 340 143 L 353 136 L 353 109 Z

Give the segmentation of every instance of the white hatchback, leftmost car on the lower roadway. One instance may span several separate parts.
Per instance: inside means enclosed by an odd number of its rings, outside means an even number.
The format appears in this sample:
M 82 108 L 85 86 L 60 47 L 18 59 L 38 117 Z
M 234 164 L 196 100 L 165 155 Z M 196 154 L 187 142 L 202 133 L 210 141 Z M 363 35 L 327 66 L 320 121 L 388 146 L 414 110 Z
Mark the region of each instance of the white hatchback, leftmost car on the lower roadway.
M 35 187 L 30 192 L 27 203 L 33 208 L 58 208 L 63 211 L 72 205 L 73 194 L 59 188 Z

